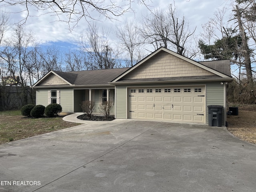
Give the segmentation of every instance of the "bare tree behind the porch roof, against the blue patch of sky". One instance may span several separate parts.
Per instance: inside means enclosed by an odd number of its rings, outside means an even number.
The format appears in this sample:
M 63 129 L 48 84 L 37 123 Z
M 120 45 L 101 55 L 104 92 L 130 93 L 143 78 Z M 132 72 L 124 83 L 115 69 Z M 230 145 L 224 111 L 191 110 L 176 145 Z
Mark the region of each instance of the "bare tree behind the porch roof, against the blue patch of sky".
M 107 30 L 102 29 L 99 33 L 95 22 L 89 26 L 87 36 L 81 35 L 79 44 L 87 55 L 86 62 L 90 69 L 112 69 L 120 66 L 118 48 L 112 48 Z

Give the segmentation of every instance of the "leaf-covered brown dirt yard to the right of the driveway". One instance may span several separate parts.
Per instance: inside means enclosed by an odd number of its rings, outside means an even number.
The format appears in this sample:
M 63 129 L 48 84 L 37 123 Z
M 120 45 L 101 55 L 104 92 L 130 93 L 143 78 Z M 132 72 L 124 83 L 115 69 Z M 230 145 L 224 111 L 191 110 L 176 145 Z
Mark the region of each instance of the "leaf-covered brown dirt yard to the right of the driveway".
M 228 116 L 227 122 L 234 136 L 256 144 L 256 105 L 238 106 L 238 115 Z

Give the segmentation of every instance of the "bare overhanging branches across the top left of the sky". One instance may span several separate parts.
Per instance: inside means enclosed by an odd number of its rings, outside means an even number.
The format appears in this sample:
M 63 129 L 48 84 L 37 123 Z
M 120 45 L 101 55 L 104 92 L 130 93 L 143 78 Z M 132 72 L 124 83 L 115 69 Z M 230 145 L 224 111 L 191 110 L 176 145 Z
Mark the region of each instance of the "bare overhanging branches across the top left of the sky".
M 82 18 L 89 21 L 89 19 L 97 20 L 99 16 L 101 21 L 102 18 L 114 20 L 126 12 L 134 12 L 134 7 L 138 4 L 148 7 L 145 0 L 2 0 L 0 4 L 23 8 L 23 12 L 27 15 L 23 22 L 26 22 L 28 16 L 33 16 L 32 10 L 37 10 L 42 14 L 56 15 L 59 21 L 68 22 L 73 26 L 76 26 Z M 93 12 L 98 13 L 98 16 Z

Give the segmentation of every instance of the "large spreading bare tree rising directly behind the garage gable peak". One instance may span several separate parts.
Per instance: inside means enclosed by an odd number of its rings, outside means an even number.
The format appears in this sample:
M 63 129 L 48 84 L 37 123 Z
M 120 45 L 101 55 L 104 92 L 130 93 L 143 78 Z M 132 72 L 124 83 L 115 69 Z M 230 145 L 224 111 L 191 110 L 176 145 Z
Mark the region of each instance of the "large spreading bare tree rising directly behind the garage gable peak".
M 190 31 L 185 17 L 179 19 L 175 4 L 170 4 L 167 12 L 156 9 L 151 15 L 142 19 L 140 30 L 146 42 L 154 48 L 170 48 L 180 55 L 184 55 L 186 44 L 192 40 L 196 30 Z

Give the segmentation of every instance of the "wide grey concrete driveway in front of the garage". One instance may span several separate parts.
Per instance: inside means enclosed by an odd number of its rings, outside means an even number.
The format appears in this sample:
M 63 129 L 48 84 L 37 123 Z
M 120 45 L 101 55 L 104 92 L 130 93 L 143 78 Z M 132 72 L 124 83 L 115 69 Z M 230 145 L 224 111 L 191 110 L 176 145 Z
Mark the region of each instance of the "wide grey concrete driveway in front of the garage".
M 226 127 L 114 120 L 0 145 L 1 192 L 255 192 L 256 145 Z

